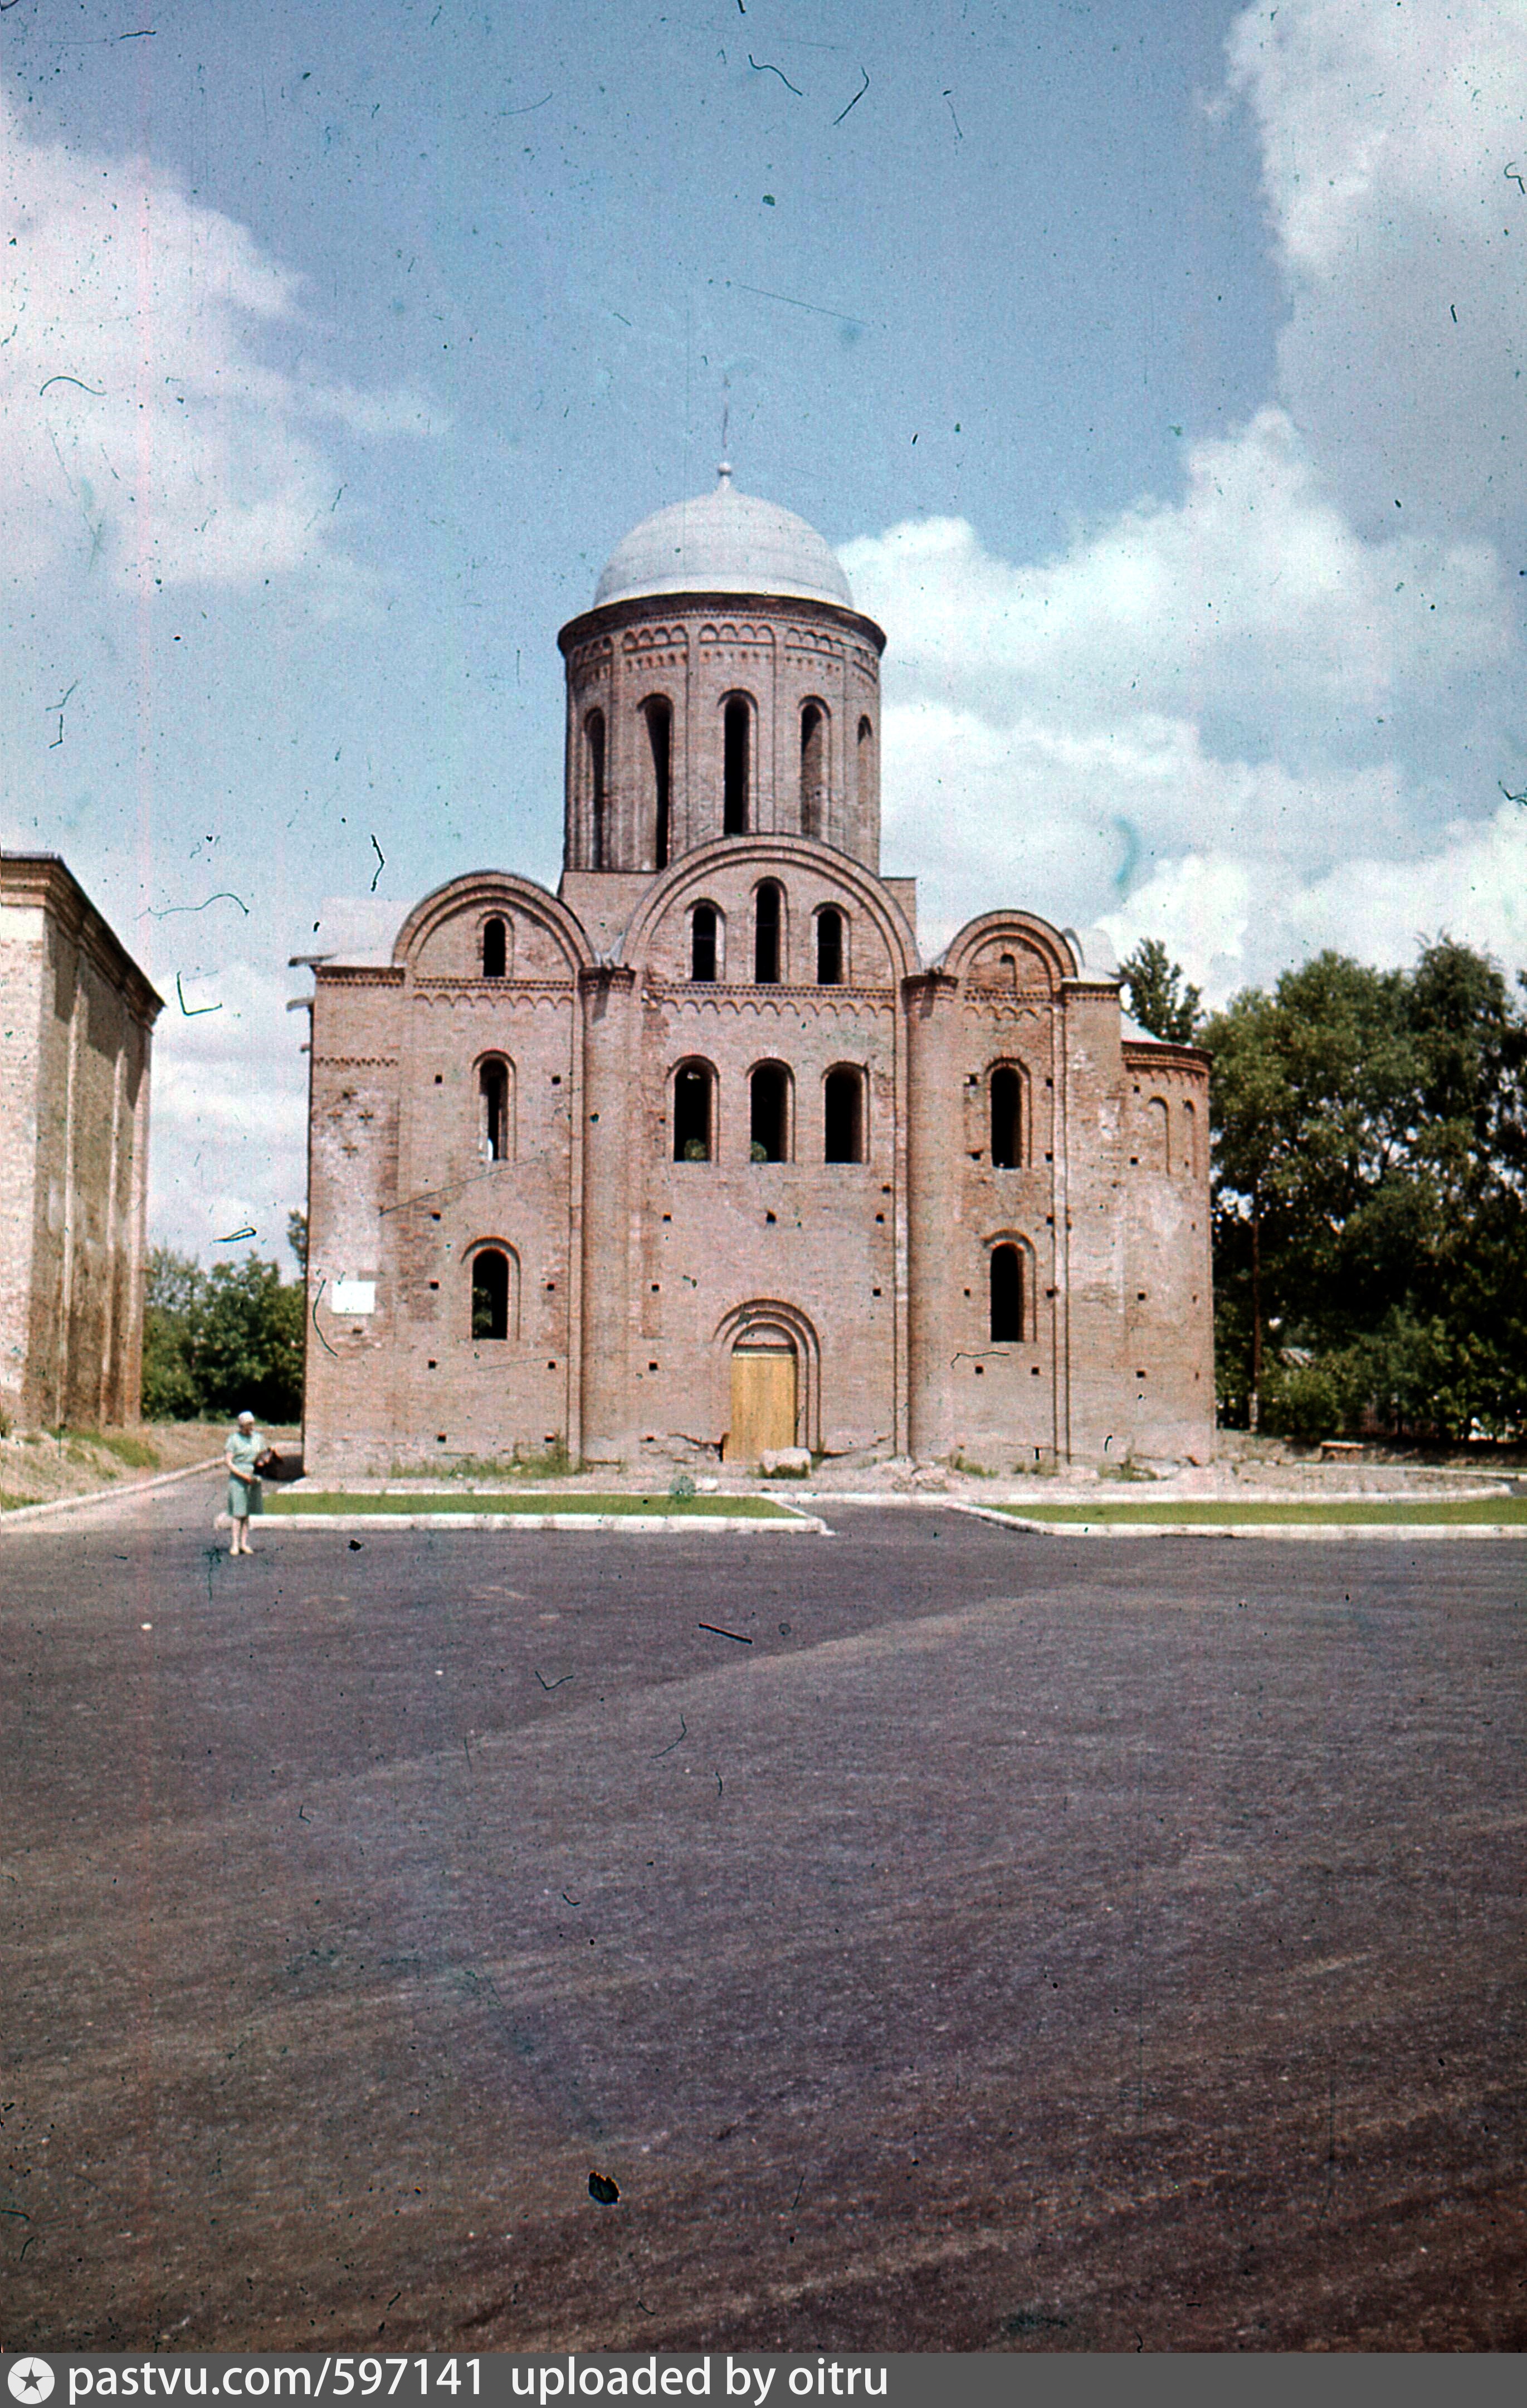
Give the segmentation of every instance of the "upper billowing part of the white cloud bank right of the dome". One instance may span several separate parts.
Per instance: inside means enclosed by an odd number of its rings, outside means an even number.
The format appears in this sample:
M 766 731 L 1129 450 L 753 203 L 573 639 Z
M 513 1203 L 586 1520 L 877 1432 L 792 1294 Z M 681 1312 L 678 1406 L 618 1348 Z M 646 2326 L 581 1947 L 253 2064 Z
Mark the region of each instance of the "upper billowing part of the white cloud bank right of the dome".
M 1440 694 L 1474 715 L 1515 672 L 1488 544 L 1363 542 L 1286 412 L 1185 465 L 1183 501 L 1142 501 L 1036 566 L 951 518 L 843 547 L 860 607 L 894 631 L 894 686 L 1069 727 L 1211 713 L 1245 756 L 1296 763 L 1382 756 L 1380 730 Z

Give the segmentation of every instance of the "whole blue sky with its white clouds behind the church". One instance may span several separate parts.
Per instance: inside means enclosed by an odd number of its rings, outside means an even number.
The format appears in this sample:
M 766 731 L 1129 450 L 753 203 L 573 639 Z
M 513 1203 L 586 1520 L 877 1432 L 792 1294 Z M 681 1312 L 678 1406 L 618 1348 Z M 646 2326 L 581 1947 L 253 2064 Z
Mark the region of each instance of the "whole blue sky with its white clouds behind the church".
M 554 884 L 556 626 L 723 412 L 889 631 L 930 951 L 1527 963 L 1525 67 L 1520 0 L 5 10 L 0 840 L 169 997 L 152 1235 L 279 1247 L 325 898 Z

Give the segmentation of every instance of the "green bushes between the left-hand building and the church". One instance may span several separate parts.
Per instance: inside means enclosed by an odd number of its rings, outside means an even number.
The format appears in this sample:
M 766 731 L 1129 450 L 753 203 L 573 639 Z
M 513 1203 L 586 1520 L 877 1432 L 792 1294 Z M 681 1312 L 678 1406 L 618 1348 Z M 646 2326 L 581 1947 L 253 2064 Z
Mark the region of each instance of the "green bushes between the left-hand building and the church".
M 147 1421 L 241 1413 L 301 1416 L 303 1288 L 282 1286 L 275 1262 L 219 1262 L 154 1247 L 142 1336 Z

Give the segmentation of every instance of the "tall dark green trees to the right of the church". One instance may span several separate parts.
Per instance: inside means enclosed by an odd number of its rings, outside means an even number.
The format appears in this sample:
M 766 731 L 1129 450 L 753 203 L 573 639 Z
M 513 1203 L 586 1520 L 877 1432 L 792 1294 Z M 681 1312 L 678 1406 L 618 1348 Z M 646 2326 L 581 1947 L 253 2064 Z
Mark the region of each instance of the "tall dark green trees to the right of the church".
M 1320 954 L 1204 1028 L 1221 1406 L 1315 1442 L 1527 1418 L 1527 1016 L 1452 939 Z

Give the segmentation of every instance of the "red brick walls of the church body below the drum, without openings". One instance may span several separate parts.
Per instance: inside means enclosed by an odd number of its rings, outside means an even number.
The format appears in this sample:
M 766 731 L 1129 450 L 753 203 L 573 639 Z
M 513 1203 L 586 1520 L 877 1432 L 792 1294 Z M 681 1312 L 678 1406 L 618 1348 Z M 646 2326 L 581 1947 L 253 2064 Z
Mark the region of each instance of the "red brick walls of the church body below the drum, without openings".
M 715 1450 L 749 1332 L 795 1348 L 795 1438 L 829 1452 L 1012 1469 L 1209 1445 L 1202 1055 L 1125 1047 L 1115 982 L 1033 915 L 985 915 L 925 973 L 891 891 L 802 838 L 568 877 L 585 908 L 605 884 L 629 910 L 602 946 L 619 958 L 592 958 L 566 903 L 484 874 L 419 905 L 393 968 L 318 970 L 318 1476 L 549 1442 Z M 764 884 L 773 980 L 754 978 Z M 696 905 L 723 929 L 713 980 L 691 978 Z M 845 922 L 838 985 L 816 982 L 824 908 Z M 479 975 L 487 917 L 508 922 L 501 980 Z M 783 1161 L 754 1158 L 761 1067 L 785 1074 Z M 686 1069 L 711 1096 L 698 1161 L 674 1158 Z M 831 1072 L 860 1081 L 860 1161 L 826 1158 Z M 997 1074 L 1019 1093 L 1012 1163 L 992 1158 Z M 482 1247 L 511 1264 L 503 1336 L 472 1334 Z M 1000 1247 L 1021 1329 L 992 1336 Z M 335 1281 L 373 1288 L 371 1310 L 330 1310 Z

